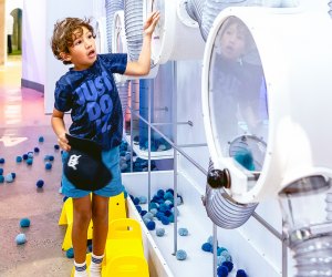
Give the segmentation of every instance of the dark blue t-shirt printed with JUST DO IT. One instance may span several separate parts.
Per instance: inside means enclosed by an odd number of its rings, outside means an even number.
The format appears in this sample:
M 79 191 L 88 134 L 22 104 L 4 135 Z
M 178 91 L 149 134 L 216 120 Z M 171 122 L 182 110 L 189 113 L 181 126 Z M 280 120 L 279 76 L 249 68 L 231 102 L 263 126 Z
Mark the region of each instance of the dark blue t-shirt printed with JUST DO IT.
M 113 73 L 123 74 L 127 54 L 98 54 L 82 71 L 70 69 L 55 84 L 54 107 L 71 111 L 70 134 L 98 143 L 103 150 L 121 144 L 123 114 Z

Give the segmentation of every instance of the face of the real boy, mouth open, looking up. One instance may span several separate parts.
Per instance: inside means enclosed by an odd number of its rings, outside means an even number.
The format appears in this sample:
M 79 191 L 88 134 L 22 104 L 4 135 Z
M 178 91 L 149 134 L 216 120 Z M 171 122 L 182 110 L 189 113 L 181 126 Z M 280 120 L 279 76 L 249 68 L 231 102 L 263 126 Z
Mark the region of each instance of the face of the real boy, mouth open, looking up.
M 73 34 L 73 45 L 69 48 L 70 53 L 66 59 L 74 64 L 75 70 L 89 69 L 96 60 L 95 39 L 85 27 L 83 33 L 76 30 Z

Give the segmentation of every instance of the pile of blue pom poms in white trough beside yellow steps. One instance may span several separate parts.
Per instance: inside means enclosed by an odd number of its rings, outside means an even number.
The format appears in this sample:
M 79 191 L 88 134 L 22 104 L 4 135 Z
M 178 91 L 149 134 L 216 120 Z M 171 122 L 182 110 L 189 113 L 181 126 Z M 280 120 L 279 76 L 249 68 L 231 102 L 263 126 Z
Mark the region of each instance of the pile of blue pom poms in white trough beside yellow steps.
M 155 219 L 159 220 L 163 225 L 168 225 L 174 223 L 174 191 L 168 188 L 166 191 L 158 189 L 157 193 L 153 196 L 151 203 L 148 204 L 149 212 L 143 209 L 139 205 L 146 204 L 147 199 L 145 196 L 134 197 L 131 195 L 131 198 L 141 214 L 144 224 L 147 229 L 154 230 L 156 228 Z M 177 205 L 183 204 L 183 197 L 178 195 Z M 178 211 L 177 211 L 178 214 Z M 160 230 L 158 230 L 158 234 Z M 188 230 L 181 229 L 181 235 L 186 235 Z M 162 236 L 162 235 L 158 235 Z

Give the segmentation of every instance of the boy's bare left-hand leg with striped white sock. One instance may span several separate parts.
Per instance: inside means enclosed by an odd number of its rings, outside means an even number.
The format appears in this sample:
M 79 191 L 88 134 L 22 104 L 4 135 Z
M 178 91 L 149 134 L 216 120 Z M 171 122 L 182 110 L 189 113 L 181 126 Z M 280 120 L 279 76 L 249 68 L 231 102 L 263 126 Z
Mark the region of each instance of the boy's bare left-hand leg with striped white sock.
M 73 198 L 73 232 L 72 242 L 74 248 L 75 277 L 87 276 L 86 271 L 86 240 L 87 227 L 92 217 L 90 195 Z

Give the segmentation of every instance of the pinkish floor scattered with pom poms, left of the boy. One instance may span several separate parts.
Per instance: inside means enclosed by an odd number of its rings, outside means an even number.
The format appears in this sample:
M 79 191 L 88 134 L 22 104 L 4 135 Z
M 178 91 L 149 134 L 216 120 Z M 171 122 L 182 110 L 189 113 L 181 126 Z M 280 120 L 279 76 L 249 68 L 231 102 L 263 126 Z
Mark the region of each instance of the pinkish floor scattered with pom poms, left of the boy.
M 55 137 L 50 115 L 43 112 L 43 94 L 21 89 L 20 57 L 10 57 L 0 66 L 0 158 L 3 176 L 15 173 L 13 183 L 0 184 L 0 276 L 70 276 L 72 259 L 61 249 L 64 227 L 58 225 L 62 208 L 59 194 L 61 160 L 54 150 Z M 39 137 L 44 142 L 40 143 Z M 33 164 L 17 163 L 34 148 Z M 53 155 L 51 171 L 45 170 L 45 155 Z M 44 181 L 38 189 L 38 179 Z M 29 228 L 20 219 L 31 220 Z M 18 246 L 15 236 L 24 233 L 27 243 Z

